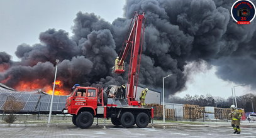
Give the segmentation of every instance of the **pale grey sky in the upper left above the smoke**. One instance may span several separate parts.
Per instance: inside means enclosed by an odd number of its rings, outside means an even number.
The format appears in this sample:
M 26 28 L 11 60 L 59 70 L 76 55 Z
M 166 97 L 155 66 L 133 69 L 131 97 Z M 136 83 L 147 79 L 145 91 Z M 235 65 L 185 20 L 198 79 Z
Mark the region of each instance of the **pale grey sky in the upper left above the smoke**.
M 21 43 L 39 43 L 39 34 L 49 28 L 64 29 L 71 34 L 75 15 L 95 13 L 112 23 L 123 17 L 124 0 L 8 0 L 0 1 L 0 51 L 14 55 Z

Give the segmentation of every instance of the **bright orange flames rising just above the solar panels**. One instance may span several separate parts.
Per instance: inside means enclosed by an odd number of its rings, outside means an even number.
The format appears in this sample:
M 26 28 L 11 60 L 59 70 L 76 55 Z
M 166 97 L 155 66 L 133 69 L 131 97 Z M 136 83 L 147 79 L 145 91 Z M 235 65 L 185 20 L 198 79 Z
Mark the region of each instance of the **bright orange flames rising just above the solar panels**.
M 43 92 L 48 93 L 49 95 L 52 95 L 52 89 L 53 85 L 43 85 L 43 80 L 34 80 L 33 82 L 24 82 L 21 81 L 18 83 L 18 85 L 15 87 L 16 90 L 21 92 L 31 92 L 31 91 L 37 91 L 38 89 L 42 89 Z M 54 95 L 69 95 L 70 92 L 66 91 L 63 87 L 63 83 L 60 80 L 56 80 L 55 82 L 55 90 Z

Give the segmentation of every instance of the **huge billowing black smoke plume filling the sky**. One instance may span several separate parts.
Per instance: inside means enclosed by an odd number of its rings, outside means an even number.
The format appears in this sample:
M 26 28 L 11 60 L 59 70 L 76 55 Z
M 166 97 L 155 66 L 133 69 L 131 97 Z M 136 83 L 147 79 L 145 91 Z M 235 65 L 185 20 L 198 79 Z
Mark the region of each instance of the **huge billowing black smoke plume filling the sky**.
M 172 73 L 165 84 L 169 95 L 174 94 L 185 88 L 187 63 L 203 60 L 217 66 L 217 75 L 223 80 L 255 88 L 255 21 L 236 24 L 230 15 L 232 4 L 219 0 L 130 0 L 124 7 L 125 18 L 113 23 L 79 12 L 72 36 L 64 30 L 48 29 L 40 33 L 40 43 L 18 46 L 16 56 L 21 61 L 15 63 L 0 53 L 0 65 L 8 64 L 0 73 L 0 81 L 14 88 L 21 81 L 50 84 L 55 60 L 59 59 L 57 79 L 66 88 L 74 83 L 103 87 L 125 83 L 127 74 L 114 75 L 111 68 L 133 13 L 138 11 L 145 12 L 147 18 L 140 84 L 160 90 L 162 77 Z

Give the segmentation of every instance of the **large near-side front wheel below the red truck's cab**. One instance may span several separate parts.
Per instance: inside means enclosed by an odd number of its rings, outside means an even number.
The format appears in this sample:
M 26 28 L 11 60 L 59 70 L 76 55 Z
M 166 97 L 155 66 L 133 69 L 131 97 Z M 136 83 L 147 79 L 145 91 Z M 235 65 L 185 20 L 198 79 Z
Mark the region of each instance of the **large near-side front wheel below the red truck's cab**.
M 79 115 L 77 115 L 77 119 L 75 120 L 77 127 L 80 127 L 81 129 L 87 129 L 91 127 L 92 123 L 94 121 L 94 118 L 91 114 L 91 112 L 81 112 Z

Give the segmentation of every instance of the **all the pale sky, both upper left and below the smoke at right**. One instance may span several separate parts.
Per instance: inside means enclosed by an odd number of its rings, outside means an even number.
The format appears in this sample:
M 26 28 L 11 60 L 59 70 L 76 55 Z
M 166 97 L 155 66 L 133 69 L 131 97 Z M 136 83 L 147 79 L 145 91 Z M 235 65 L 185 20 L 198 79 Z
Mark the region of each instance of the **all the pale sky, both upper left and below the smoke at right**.
M 8 0 L 0 1 L 0 51 L 6 51 L 19 60 L 14 52 L 22 43 L 34 45 L 40 43 L 38 36 L 49 28 L 64 29 L 72 36 L 71 27 L 75 14 L 95 13 L 97 16 L 112 23 L 118 17 L 123 17 L 125 0 Z M 225 82 L 215 75 L 216 67 L 202 72 L 191 73 L 186 88 L 177 96 L 206 95 L 230 97 L 232 82 Z M 236 87 L 237 95 L 250 93 L 250 87 Z

